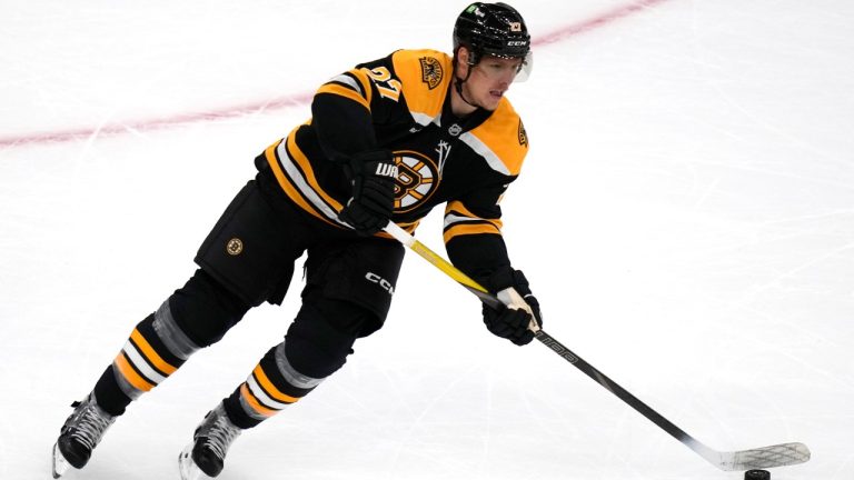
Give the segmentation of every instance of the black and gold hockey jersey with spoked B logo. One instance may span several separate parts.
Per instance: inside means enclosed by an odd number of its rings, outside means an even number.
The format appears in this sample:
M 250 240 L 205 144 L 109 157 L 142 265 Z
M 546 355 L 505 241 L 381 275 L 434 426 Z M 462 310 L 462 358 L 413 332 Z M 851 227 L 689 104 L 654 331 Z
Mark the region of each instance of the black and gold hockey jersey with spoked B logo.
M 340 163 L 386 148 L 399 171 L 393 221 L 413 232 L 446 203 L 445 243 L 457 267 L 476 274 L 509 264 L 499 201 L 527 153 L 525 128 L 506 98 L 493 112 L 455 117 L 451 77 L 449 56 L 398 50 L 325 83 L 312 118 L 265 152 L 285 193 L 317 219 L 350 228 L 338 219 L 351 194 Z

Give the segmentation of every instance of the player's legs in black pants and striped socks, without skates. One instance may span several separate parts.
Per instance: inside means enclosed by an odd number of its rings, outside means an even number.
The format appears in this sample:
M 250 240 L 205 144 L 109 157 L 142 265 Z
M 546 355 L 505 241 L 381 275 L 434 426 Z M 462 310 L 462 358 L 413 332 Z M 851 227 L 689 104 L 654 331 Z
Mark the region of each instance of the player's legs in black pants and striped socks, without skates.
M 404 249 L 314 219 L 262 169 L 202 242 L 196 257 L 201 268 L 137 326 L 96 387 L 99 403 L 123 412 L 193 351 L 219 341 L 250 308 L 279 304 L 304 252 L 302 306 L 285 341 L 226 399 L 226 411 L 249 428 L 311 391 L 344 366 L 357 338 L 381 328 Z

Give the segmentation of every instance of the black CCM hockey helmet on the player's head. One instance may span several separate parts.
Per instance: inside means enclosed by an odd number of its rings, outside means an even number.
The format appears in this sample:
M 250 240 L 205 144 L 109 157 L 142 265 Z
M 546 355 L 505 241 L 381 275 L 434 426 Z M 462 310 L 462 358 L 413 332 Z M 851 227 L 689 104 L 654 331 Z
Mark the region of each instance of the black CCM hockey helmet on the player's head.
M 460 47 L 470 52 L 468 63 L 485 54 L 523 59 L 529 64 L 530 34 L 525 20 L 507 3 L 475 2 L 466 7 L 454 24 L 454 54 Z

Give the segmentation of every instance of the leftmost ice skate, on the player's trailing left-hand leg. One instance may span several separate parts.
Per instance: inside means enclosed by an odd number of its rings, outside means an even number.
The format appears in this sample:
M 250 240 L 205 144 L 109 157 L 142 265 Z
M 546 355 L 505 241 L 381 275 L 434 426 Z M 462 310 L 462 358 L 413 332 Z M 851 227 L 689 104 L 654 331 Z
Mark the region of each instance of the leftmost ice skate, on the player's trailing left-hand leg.
M 81 402 L 73 402 L 75 411 L 66 420 L 53 444 L 53 478 L 60 478 L 69 467 L 81 469 L 101 441 L 103 432 L 116 421 L 116 417 L 103 411 L 89 393 Z

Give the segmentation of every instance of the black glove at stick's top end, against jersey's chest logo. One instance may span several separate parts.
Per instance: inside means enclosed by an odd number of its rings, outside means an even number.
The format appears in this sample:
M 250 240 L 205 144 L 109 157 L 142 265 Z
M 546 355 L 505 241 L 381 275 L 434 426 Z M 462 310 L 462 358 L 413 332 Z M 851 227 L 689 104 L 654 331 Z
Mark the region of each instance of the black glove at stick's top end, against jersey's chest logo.
M 352 187 L 352 197 L 338 212 L 356 232 L 373 236 L 383 230 L 395 208 L 397 166 L 388 150 L 369 150 L 352 156 L 344 170 Z

